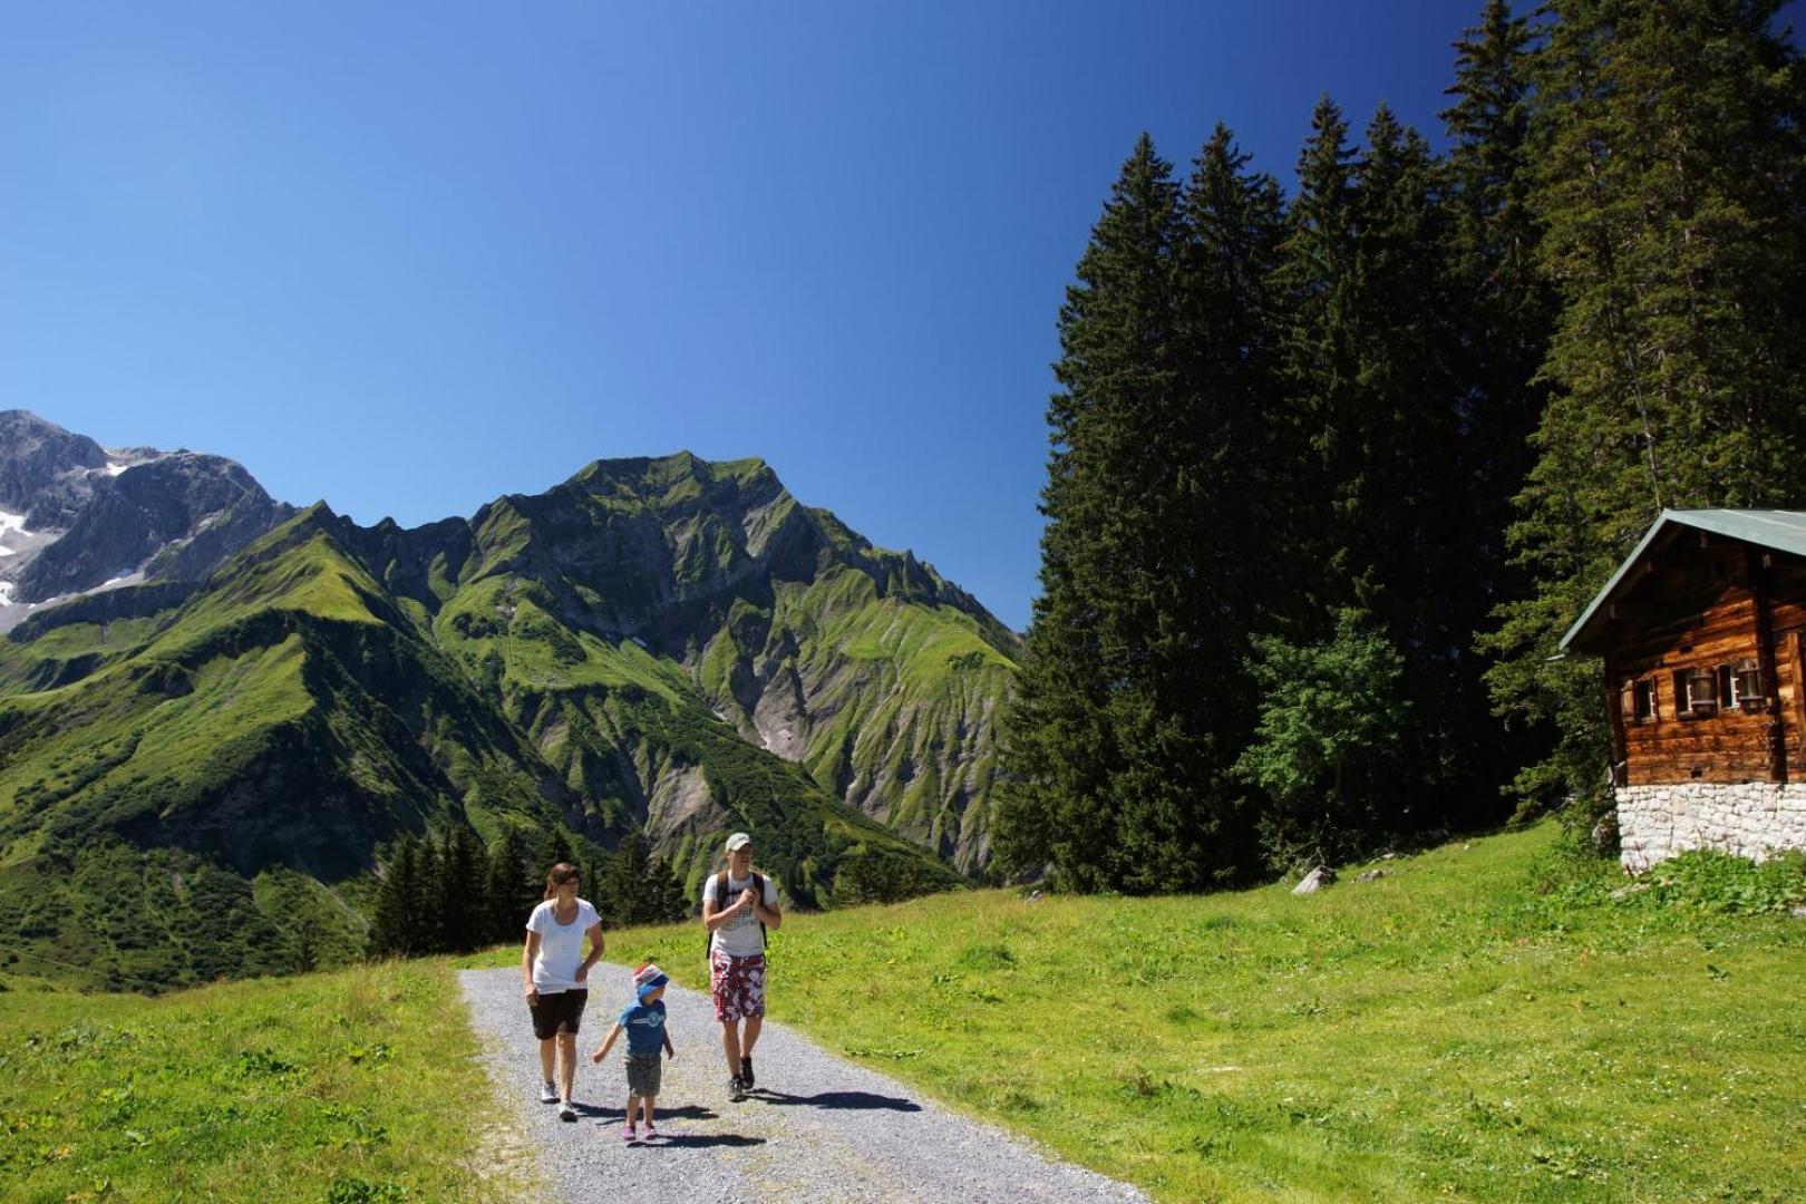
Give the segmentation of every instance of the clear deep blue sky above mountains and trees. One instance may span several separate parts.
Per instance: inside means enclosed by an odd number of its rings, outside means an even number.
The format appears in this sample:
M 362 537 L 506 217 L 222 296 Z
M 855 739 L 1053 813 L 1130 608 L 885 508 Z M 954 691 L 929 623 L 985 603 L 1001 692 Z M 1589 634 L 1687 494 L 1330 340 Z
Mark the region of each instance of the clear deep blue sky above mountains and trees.
M 1008 625 L 1136 135 L 1439 141 L 1479 0 L 0 0 L 0 410 L 361 523 L 760 455 Z

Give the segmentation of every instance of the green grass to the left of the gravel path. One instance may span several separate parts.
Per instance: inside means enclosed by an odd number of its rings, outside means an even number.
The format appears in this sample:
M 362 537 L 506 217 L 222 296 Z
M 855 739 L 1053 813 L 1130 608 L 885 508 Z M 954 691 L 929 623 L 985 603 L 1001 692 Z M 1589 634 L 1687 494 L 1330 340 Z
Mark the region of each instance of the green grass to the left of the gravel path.
M 0 993 L 7 1200 L 498 1200 L 502 1105 L 444 962 L 159 1000 Z

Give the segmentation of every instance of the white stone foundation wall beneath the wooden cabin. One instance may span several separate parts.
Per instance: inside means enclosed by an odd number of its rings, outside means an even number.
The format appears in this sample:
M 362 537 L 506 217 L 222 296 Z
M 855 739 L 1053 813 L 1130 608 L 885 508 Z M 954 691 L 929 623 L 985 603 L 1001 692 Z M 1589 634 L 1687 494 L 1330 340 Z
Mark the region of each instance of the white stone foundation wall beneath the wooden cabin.
M 1620 785 L 1616 798 L 1620 859 L 1631 874 L 1689 848 L 1718 848 L 1752 861 L 1806 848 L 1801 782 Z

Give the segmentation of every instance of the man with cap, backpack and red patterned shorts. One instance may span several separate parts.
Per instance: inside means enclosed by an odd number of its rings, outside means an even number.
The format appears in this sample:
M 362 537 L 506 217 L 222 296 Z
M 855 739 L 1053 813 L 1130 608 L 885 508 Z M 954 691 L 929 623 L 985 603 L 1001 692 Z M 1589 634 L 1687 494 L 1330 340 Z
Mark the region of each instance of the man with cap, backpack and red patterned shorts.
M 735 832 L 728 838 L 728 868 L 703 883 L 708 987 L 728 1054 L 730 1099 L 746 1099 L 753 1088 L 753 1045 L 766 1020 L 766 930 L 782 922 L 777 884 L 753 870 L 753 838 Z

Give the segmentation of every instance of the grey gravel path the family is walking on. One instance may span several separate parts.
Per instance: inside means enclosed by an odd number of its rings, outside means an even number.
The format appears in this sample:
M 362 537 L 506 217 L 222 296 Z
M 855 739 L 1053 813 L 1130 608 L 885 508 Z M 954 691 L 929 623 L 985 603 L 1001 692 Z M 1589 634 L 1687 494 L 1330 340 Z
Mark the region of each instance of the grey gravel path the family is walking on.
M 659 1141 L 621 1141 L 625 1038 L 589 1063 L 630 998 L 630 971 L 591 971 L 578 1036 L 578 1123 L 538 1103 L 540 1054 L 520 998 L 520 969 L 459 973 L 484 1036 L 489 1074 L 518 1101 L 518 1132 L 538 1152 L 554 1199 L 571 1204 L 706 1200 L 1143 1200 L 1112 1179 L 1057 1162 L 1020 1137 L 948 1112 L 874 1070 L 834 1058 L 780 1023 L 753 1054 L 759 1088 L 728 1101 L 721 1029 L 706 995 L 672 984 Z M 782 982 L 775 989 L 784 989 Z M 513 1143 L 509 1143 L 513 1144 Z

